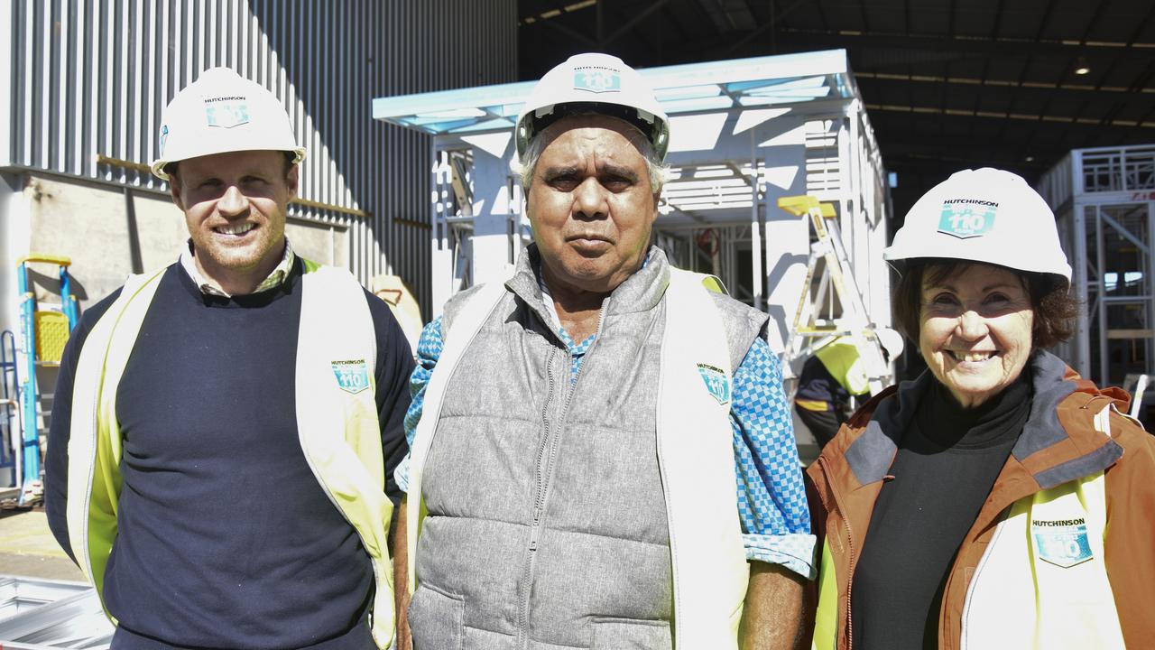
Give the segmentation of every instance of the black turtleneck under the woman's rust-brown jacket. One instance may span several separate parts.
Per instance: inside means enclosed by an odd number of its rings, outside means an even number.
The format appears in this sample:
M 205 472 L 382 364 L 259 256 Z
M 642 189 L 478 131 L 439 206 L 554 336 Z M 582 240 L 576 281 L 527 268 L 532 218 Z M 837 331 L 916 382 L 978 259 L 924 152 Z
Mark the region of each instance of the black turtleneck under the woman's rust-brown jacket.
M 1030 415 L 1020 376 L 963 408 L 937 381 L 919 400 L 871 515 L 851 596 L 855 648 L 938 647 L 942 588 Z

